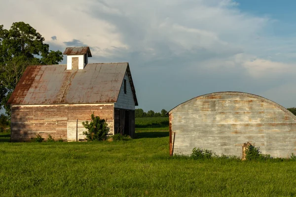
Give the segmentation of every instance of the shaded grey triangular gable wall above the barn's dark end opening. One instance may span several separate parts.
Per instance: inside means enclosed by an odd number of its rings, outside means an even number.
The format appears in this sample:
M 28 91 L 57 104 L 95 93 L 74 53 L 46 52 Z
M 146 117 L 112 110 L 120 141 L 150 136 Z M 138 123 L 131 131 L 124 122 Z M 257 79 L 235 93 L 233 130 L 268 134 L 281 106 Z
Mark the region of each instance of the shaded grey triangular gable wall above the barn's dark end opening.
M 133 97 L 132 88 L 129 82 L 129 78 L 125 73 L 124 79 L 126 80 L 126 94 L 124 94 L 124 83 L 122 82 L 117 102 L 114 107 L 121 109 L 135 110 L 135 100 Z

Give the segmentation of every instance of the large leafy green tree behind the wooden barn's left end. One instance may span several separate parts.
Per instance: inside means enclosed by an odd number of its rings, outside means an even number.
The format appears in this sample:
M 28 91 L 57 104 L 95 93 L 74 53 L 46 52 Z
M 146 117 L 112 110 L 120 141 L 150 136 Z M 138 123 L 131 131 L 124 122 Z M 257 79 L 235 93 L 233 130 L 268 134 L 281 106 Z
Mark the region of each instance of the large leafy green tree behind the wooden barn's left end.
M 0 108 L 9 115 L 6 102 L 27 66 L 53 65 L 62 60 L 62 52 L 49 50 L 44 37 L 29 24 L 13 23 L 10 30 L 0 25 Z

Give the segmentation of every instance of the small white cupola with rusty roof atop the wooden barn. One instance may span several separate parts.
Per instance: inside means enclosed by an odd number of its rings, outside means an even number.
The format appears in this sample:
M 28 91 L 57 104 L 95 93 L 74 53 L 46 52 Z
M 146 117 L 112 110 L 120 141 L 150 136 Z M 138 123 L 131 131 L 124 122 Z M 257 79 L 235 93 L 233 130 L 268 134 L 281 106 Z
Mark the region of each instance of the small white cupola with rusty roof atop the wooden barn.
M 67 70 L 80 70 L 88 64 L 88 57 L 92 57 L 89 47 L 67 47 Z

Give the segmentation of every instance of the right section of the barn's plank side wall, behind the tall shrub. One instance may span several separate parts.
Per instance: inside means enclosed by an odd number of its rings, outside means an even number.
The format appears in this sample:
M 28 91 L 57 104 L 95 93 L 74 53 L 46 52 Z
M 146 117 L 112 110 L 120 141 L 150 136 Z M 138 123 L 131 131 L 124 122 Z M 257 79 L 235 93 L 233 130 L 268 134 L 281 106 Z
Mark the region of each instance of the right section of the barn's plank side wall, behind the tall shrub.
M 69 105 L 68 141 L 76 140 L 76 119 L 78 119 L 78 140 L 85 138 L 82 132 L 86 131 L 86 129 L 83 127 L 82 122 L 90 122 L 92 113 L 107 120 L 108 127 L 110 128 L 109 134 L 114 133 L 113 104 Z

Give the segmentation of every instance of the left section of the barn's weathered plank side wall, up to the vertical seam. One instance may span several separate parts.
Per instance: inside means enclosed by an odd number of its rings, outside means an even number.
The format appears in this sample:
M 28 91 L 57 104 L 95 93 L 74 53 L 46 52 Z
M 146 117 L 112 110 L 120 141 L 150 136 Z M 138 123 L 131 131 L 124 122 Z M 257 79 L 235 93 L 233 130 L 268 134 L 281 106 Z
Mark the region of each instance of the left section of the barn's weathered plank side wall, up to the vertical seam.
M 67 140 L 67 114 L 65 105 L 12 106 L 11 140 L 29 141 L 37 134 Z

